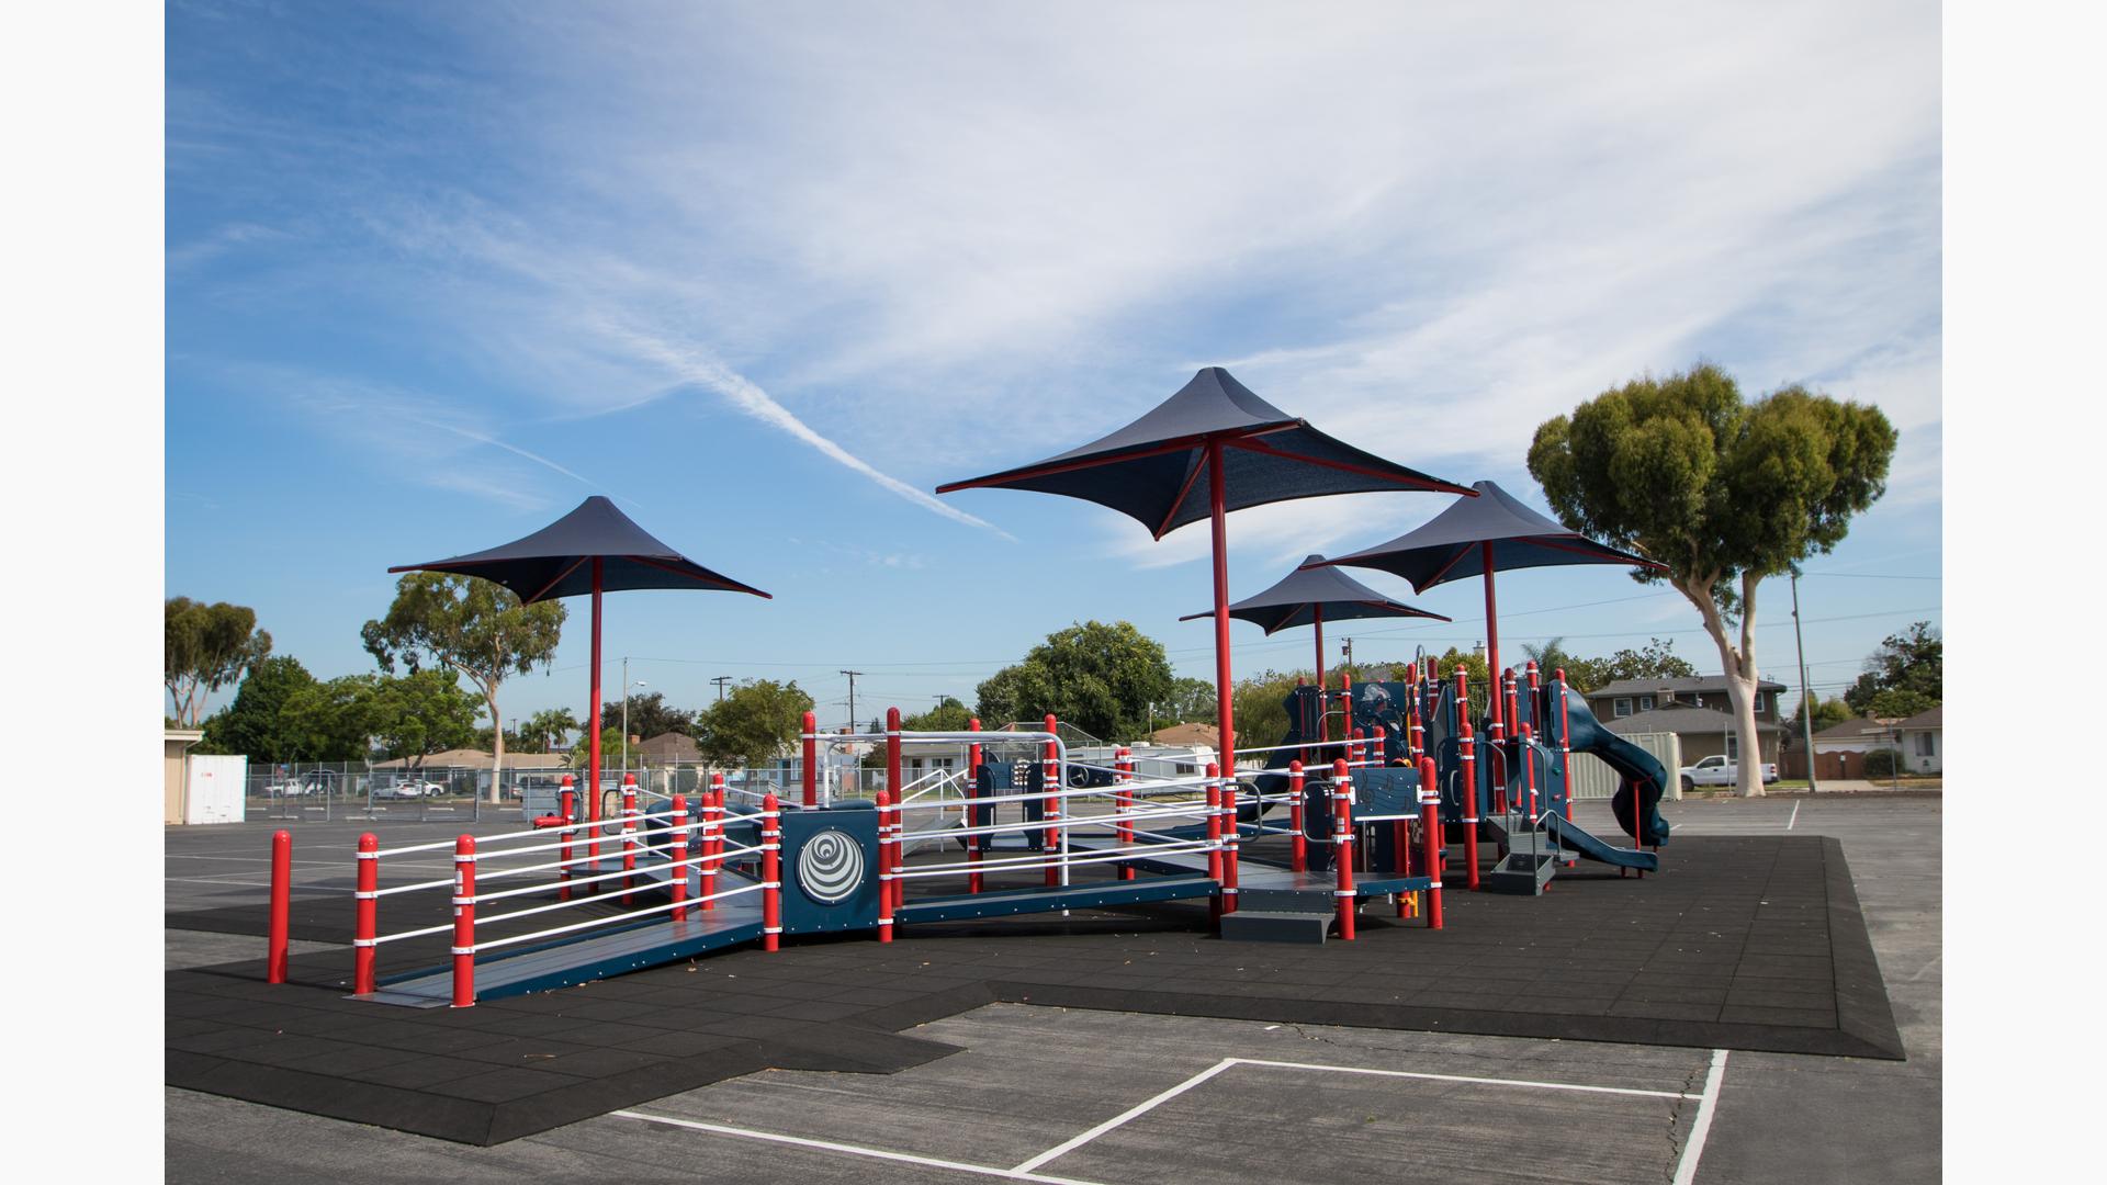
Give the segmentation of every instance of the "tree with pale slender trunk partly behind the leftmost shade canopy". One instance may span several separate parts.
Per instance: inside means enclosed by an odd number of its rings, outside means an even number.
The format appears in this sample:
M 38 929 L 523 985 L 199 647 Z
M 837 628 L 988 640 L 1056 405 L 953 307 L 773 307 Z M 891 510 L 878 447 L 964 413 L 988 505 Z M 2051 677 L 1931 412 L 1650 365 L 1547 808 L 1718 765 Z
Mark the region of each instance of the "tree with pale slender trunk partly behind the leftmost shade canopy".
M 388 616 L 367 622 L 358 637 L 386 673 L 394 673 L 396 662 L 415 673 L 421 660 L 430 660 L 466 677 L 483 694 L 491 730 L 499 730 L 499 683 L 508 675 L 548 666 L 556 656 L 565 614 L 556 601 L 520 605 L 518 595 L 491 580 L 411 571 L 396 582 Z M 504 734 L 495 740 L 493 755 L 497 768 L 504 768 Z M 491 778 L 491 801 L 497 795 L 497 778 Z

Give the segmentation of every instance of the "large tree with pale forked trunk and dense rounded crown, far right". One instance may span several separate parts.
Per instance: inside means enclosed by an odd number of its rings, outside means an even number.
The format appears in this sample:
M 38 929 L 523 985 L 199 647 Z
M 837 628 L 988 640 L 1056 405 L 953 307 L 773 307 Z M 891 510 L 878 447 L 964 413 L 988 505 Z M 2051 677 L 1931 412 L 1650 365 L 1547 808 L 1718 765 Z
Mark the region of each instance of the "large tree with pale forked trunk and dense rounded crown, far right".
M 1894 428 L 1799 386 L 1742 401 L 1713 365 L 1639 377 L 1547 420 L 1530 474 L 1570 529 L 1667 565 L 1719 647 L 1742 753 L 1757 753 L 1755 588 L 1844 540 L 1886 489 Z M 1730 637 L 1734 635 L 1734 637 Z M 1761 795 L 1755 761 L 1742 795 Z

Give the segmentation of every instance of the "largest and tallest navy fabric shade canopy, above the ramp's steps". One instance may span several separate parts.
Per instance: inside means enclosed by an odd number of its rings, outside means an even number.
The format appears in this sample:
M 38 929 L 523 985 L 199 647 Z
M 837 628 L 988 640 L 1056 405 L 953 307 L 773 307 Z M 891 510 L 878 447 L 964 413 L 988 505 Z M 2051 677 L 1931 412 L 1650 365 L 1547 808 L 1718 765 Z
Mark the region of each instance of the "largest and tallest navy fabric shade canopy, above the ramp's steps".
M 1209 447 L 1218 445 L 1218 447 Z M 1155 538 L 1207 519 L 1209 455 L 1222 458 L 1222 510 L 1292 498 L 1378 489 L 1469 489 L 1363 453 L 1273 407 L 1222 367 L 1205 367 L 1178 394 L 1125 428 L 1022 468 L 940 485 L 1035 489 L 1110 506 Z

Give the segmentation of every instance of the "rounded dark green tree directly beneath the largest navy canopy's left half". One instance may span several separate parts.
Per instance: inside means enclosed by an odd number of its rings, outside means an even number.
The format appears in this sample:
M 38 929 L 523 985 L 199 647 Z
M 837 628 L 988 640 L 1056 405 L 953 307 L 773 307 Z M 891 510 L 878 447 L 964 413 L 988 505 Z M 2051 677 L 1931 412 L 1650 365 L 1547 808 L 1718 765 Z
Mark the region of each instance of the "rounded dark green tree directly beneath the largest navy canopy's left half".
M 1102 740 L 1127 740 L 1146 732 L 1148 704 L 1167 704 L 1171 689 L 1163 643 L 1131 622 L 1083 622 L 1047 635 L 976 694 L 990 727 L 1054 713 Z

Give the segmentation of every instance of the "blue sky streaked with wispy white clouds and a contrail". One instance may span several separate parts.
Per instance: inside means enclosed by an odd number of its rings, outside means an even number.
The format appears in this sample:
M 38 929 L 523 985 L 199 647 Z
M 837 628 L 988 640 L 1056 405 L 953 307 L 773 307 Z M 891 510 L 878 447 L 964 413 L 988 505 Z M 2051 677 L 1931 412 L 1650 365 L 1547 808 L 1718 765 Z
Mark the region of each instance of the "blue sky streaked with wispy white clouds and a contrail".
M 1812 683 L 1941 622 L 1941 40 L 1926 4 L 171 4 L 166 592 L 371 668 L 386 567 L 609 493 L 775 595 L 624 592 L 605 673 L 700 706 L 794 677 L 841 719 L 1072 620 L 1212 677 L 1205 525 L 938 483 L 1062 451 L 1201 365 L 1363 449 L 1542 506 L 1534 426 L 1709 358 L 1901 428 L 1808 563 Z M 1230 592 L 1445 506 L 1233 514 Z M 1327 630 L 1363 660 L 1483 637 Z M 1797 683 L 1785 582 L 1757 660 Z M 1694 609 L 1616 569 L 1500 584 L 1582 654 Z M 1237 671 L 1311 639 L 1235 626 Z M 508 717 L 584 708 L 586 603 Z M 868 715 L 868 711 L 864 713 Z

